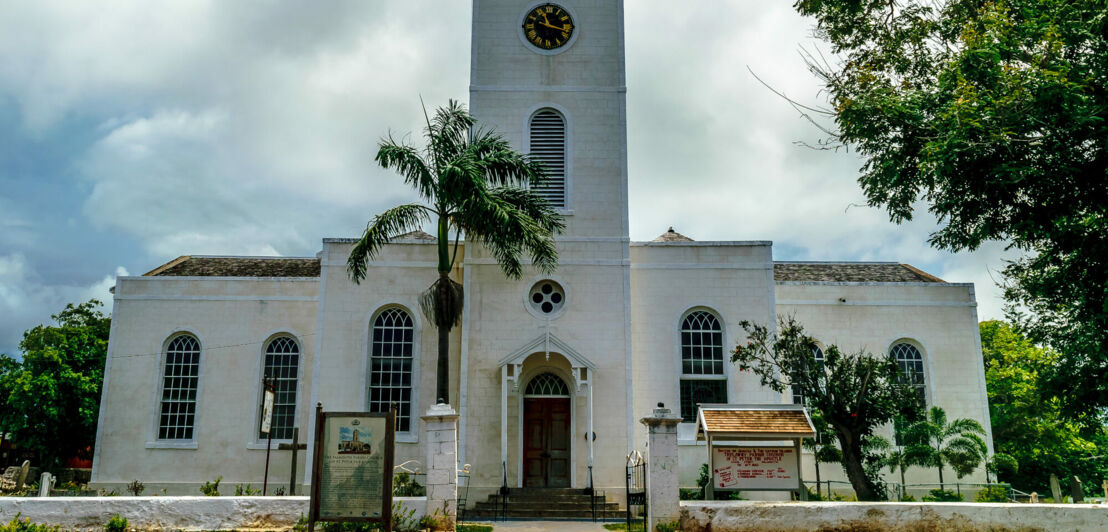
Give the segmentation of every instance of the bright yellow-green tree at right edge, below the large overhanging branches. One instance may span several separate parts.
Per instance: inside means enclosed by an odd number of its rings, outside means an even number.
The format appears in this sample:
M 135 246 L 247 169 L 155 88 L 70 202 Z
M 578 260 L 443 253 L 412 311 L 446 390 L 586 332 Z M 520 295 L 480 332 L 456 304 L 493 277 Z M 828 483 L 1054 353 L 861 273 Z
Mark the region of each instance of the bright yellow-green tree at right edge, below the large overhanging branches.
M 982 321 L 979 327 L 993 441 L 997 457 L 1010 456 L 1016 462 L 1001 468 L 998 479 L 1045 493 L 1051 473 L 1083 480 L 1108 475 L 1105 420 L 1064 416 L 1059 398 L 1043 386 L 1042 376 L 1057 364 L 1057 352 L 1036 346 L 1004 321 Z

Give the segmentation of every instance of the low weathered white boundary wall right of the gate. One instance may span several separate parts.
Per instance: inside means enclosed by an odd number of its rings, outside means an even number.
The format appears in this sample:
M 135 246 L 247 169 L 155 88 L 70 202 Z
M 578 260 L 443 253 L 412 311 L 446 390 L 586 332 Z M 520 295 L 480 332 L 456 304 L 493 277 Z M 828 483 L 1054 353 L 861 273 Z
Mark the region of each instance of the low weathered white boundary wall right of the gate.
M 1106 504 L 951 502 L 681 502 L 686 532 L 1108 530 Z

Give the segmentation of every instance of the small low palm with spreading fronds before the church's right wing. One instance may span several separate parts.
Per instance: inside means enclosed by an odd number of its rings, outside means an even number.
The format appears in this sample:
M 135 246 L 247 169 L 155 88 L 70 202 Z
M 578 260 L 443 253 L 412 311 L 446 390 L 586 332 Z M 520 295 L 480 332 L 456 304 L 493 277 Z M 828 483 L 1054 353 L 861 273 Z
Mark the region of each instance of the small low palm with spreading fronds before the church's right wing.
M 982 438 L 985 429 L 973 419 L 961 418 L 946 422 L 946 411 L 931 407 L 927 418 L 909 426 L 904 431 L 906 453 L 915 463 L 938 468 L 938 489 L 943 487 L 943 467 L 950 466 L 961 479 L 972 473 L 988 456 Z

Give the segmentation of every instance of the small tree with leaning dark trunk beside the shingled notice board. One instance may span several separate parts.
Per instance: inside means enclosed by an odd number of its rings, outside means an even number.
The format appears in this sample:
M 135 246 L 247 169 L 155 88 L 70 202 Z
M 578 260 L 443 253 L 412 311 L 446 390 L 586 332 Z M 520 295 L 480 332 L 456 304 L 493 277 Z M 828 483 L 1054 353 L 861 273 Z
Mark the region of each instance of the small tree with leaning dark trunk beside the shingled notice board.
M 884 499 L 873 432 L 915 403 L 912 389 L 900 383 L 896 362 L 828 346 L 823 362 L 818 364 L 812 349 L 815 340 L 791 316 L 778 318 L 777 332 L 749 321 L 739 325 L 749 339 L 735 347 L 731 361 L 772 390 L 799 390 L 834 431 L 843 470 L 858 499 Z

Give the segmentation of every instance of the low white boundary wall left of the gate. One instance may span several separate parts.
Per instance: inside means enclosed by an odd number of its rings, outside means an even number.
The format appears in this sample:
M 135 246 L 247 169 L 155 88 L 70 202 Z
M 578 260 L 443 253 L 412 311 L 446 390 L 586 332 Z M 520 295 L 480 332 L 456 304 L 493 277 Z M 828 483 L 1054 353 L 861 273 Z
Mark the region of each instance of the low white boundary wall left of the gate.
M 427 499 L 398 497 L 424 514 Z M 145 530 L 287 530 L 308 513 L 307 497 L 0 497 L 0 522 L 21 513 L 33 523 L 65 530 L 104 530 L 113 515 Z

